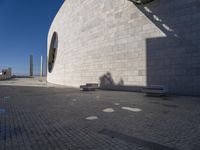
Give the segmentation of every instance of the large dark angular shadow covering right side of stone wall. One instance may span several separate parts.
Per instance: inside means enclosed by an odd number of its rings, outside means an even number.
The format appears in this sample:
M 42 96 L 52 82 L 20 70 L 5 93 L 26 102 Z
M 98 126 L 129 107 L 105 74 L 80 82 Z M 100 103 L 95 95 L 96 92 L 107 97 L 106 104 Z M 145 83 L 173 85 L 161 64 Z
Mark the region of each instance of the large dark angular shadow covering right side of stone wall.
M 200 95 L 200 1 L 135 5 L 166 37 L 146 39 L 147 85 Z

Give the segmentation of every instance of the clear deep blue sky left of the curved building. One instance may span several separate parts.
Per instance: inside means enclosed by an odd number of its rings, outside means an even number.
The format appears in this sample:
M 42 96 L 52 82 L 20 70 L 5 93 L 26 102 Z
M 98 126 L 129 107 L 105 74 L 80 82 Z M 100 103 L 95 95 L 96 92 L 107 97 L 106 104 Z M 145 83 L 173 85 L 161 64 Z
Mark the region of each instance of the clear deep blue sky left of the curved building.
M 33 54 L 34 72 L 39 73 L 48 30 L 63 1 L 0 0 L 0 69 L 12 67 L 14 73 L 27 74 Z

